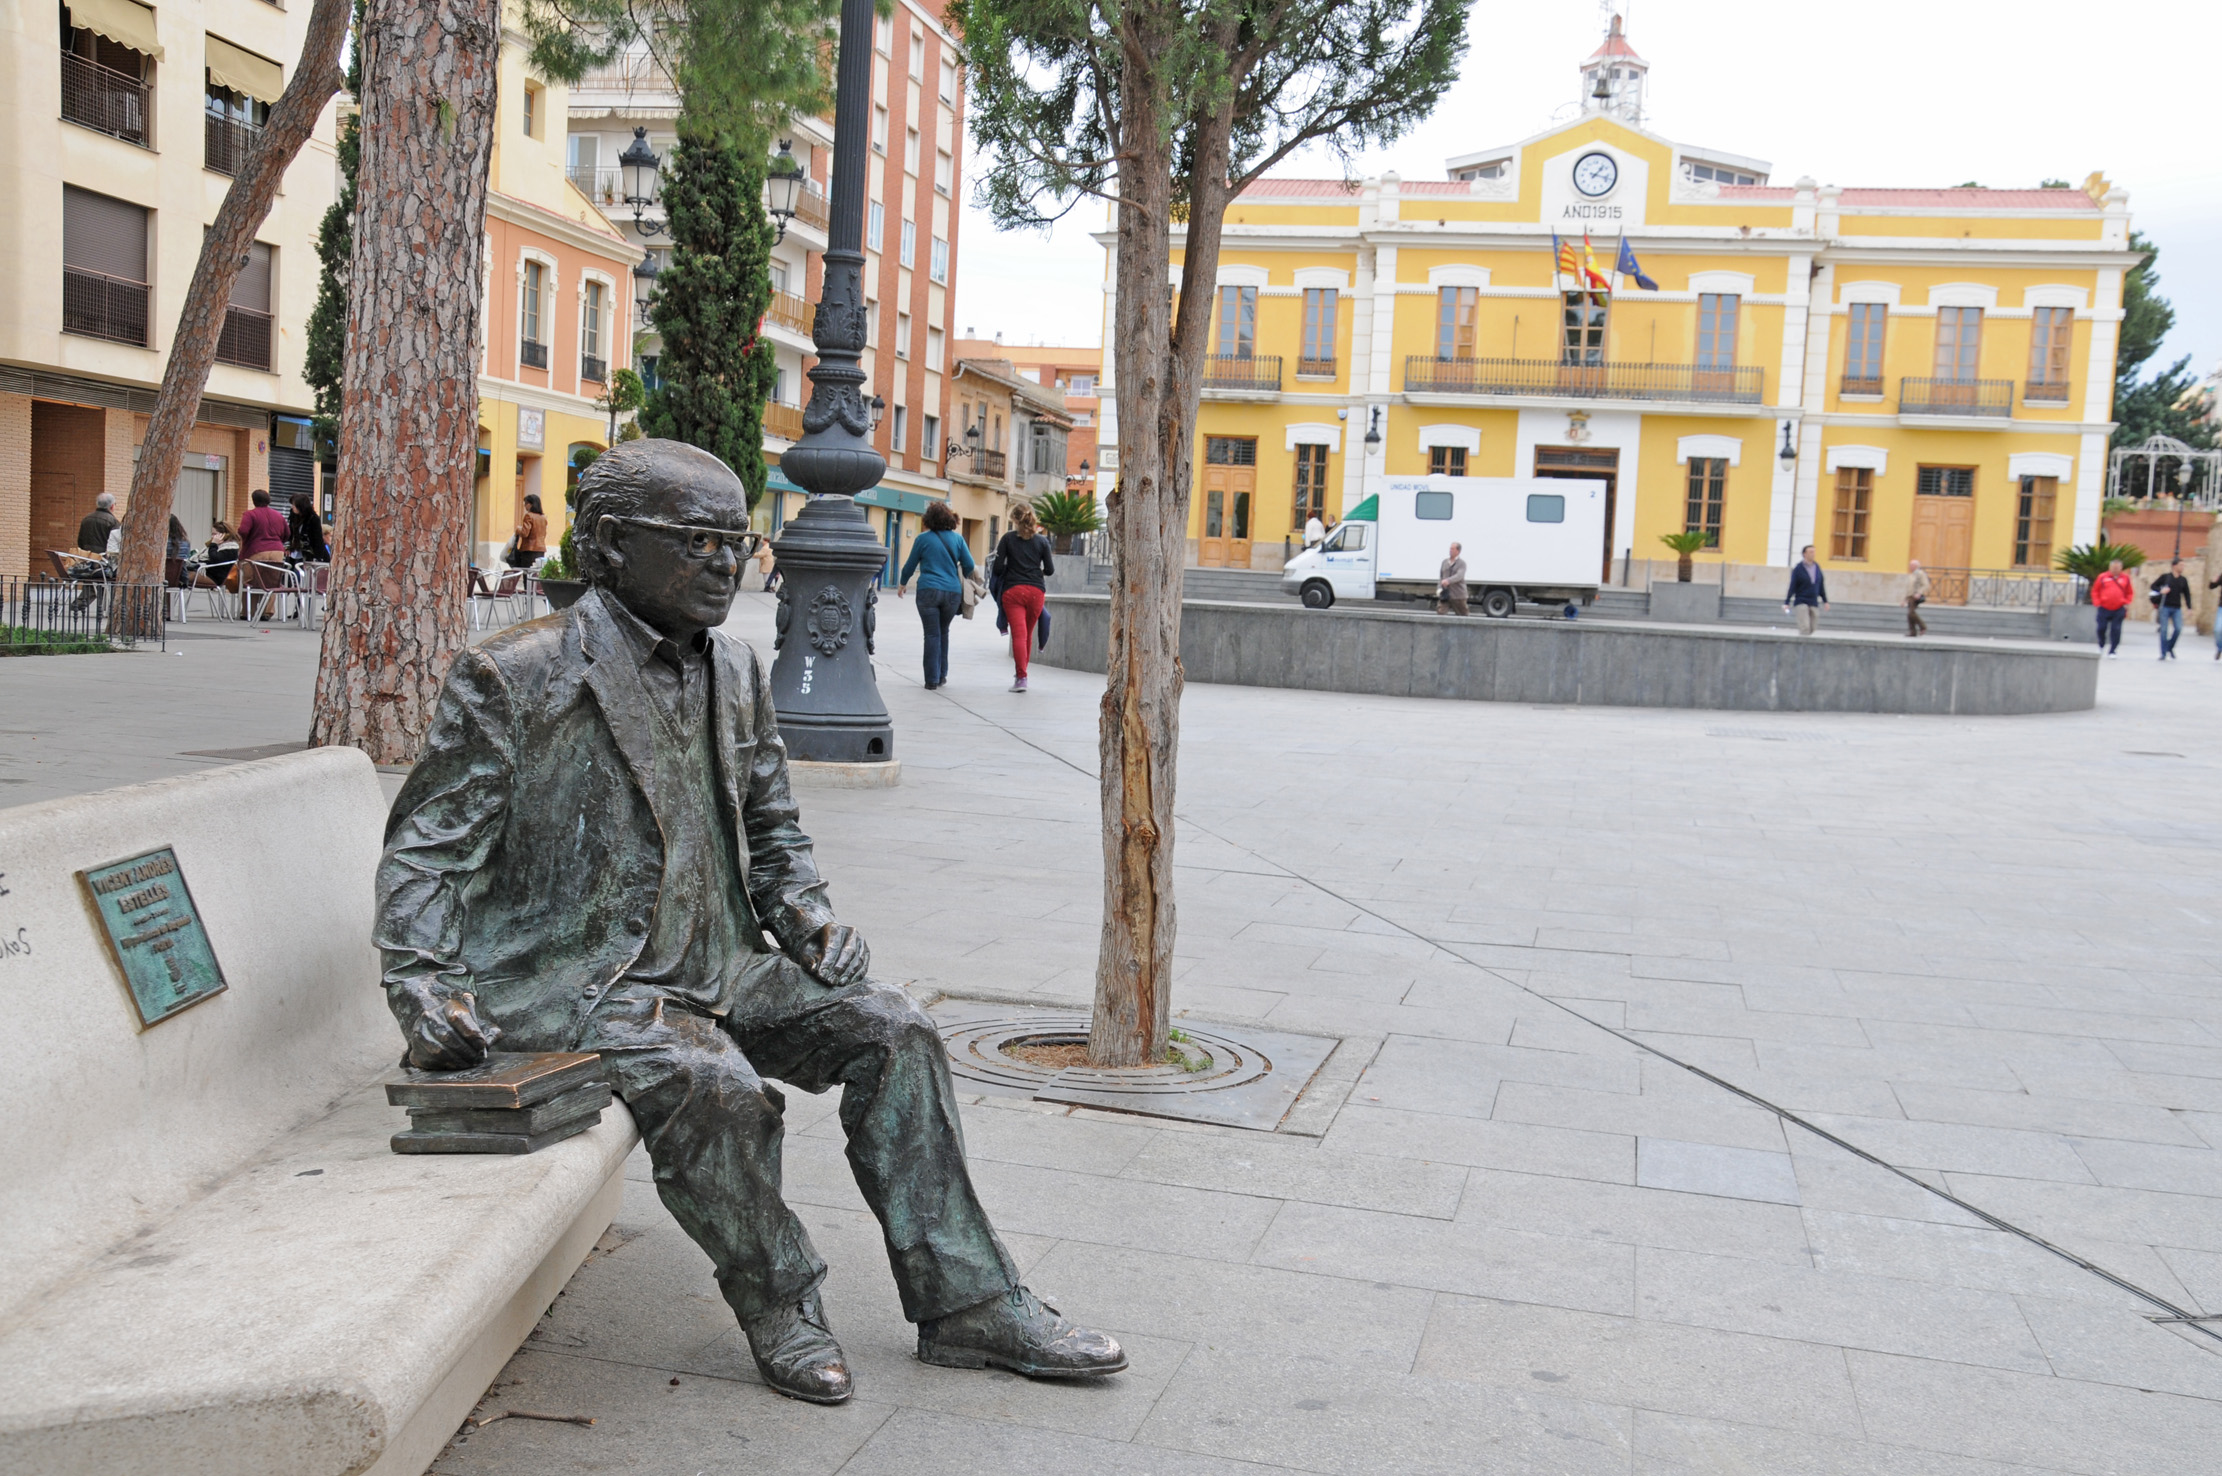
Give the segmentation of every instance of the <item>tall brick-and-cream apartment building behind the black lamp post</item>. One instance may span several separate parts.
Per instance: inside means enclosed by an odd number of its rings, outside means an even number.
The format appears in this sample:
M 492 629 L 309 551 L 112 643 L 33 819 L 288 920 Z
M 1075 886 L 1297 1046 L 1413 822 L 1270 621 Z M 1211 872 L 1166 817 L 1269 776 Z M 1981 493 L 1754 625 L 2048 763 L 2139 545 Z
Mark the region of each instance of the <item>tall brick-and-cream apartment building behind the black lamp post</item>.
M 567 167 L 627 233 L 649 273 L 669 260 L 671 238 L 658 205 L 624 205 L 618 164 L 633 140 L 669 158 L 678 140 L 680 96 L 644 53 L 582 78 L 569 96 Z M 764 336 L 778 353 L 778 389 L 764 411 L 771 496 L 755 509 L 778 529 L 802 505 L 780 473 L 780 456 L 802 436 L 809 402 L 811 313 L 824 278 L 833 122 L 793 118 L 780 144 L 802 167 L 807 187 L 787 236 L 773 247 L 773 300 Z M 958 271 L 958 218 L 964 156 L 964 78 L 955 36 L 911 0 L 873 24 L 871 138 L 864 182 L 867 393 L 878 396 L 873 440 L 887 478 L 858 502 L 900 560 L 920 516 L 951 493 L 947 476 L 951 353 L 949 311 Z M 644 293 L 642 293 L 644 296 Z M 642 320 L 638 365 L 653 378 L 660 342 Z

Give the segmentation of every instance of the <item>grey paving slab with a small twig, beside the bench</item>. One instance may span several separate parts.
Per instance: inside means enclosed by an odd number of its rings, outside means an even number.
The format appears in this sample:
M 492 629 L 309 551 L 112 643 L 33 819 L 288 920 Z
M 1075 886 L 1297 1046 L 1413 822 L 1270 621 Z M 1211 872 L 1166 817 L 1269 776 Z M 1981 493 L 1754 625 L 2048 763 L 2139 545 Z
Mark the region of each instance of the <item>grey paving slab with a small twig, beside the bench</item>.
M 700 1469 L 831 1476 L 893 1414 L 867 1398 L 824 1409 L 753 1380 L 695 1372 L 673 1378 L 671 1369 L 529 1347 L 509 1360 L 473 1418 L 500 1409 L 587 1414 L 593 1425 L 496 1420 L 458 1432 L 431 1469 L 440 1476 Z

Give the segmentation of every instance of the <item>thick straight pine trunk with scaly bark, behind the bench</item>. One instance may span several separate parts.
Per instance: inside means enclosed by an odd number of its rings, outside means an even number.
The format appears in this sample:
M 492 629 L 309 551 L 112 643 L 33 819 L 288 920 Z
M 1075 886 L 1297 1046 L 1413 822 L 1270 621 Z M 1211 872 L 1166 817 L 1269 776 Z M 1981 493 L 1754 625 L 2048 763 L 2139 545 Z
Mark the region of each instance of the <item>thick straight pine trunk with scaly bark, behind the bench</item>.
M 331 609 L 311 745 L 413 762 L 469 642 L 500 0 L 371 0 Z

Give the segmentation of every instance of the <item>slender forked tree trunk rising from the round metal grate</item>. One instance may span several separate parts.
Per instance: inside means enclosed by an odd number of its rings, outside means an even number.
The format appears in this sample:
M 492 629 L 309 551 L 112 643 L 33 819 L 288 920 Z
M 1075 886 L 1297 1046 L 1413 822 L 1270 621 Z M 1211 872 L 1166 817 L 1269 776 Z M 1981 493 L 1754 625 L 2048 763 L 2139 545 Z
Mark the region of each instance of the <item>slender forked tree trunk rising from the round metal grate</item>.
M 1180 587 L 1189 562 L 1195 405 L 1220 220 L 1231 98 L 1193 133 L 1180 313 L 1169 302 L 1173 147 L 1151 91 L 1149 11 L 1127 11 L 1118 205 L 1118 487 L 1111 531 L 1111 654 L 1098 731 L 1104 816 L 1104 927 L 1095 956 L 1089 1065 L 1164 1056 L 1173 1005 L 1173 780 L 1180 749 Z M 1171 24 L 1180 24 L 1178 18 Z

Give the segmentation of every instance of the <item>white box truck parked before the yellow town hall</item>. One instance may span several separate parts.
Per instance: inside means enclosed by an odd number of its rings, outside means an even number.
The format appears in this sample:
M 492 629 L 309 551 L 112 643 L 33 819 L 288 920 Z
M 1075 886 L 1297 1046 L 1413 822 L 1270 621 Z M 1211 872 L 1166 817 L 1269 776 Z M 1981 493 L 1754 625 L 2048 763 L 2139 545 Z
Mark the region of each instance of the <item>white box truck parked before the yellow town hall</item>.
M 1547 476 L 1389 478 L 1327 542 L 1280 571 L 1307 609 L 1335 600 L 1433 600 L 1451 545 L 1462 545 L 1467 596 L 1502 620 L 1522 600 L 1589 605 L 1604 562 L 1604 482 Z

